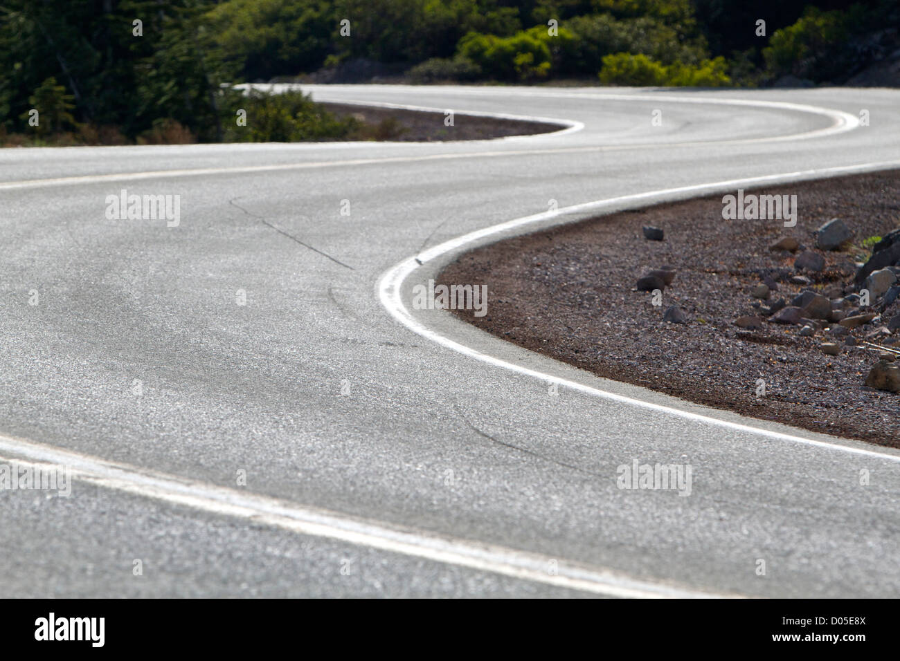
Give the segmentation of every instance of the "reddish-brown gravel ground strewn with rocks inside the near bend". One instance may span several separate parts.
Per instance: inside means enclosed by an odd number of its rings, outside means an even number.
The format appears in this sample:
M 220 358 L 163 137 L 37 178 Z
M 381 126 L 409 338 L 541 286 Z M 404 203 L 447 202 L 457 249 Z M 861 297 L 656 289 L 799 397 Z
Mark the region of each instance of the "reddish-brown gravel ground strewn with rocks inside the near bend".
M 456 314 L 600 376 L 900 447 L 900 170 L 750 192 L 797 194 L 797 226 L 725 220 L 719 195 L 486 246 L 440 281 L 487 284 L 486 316 Z

